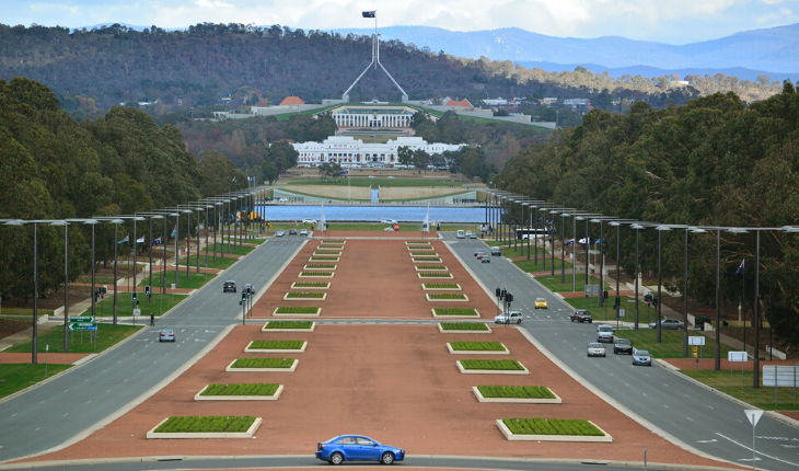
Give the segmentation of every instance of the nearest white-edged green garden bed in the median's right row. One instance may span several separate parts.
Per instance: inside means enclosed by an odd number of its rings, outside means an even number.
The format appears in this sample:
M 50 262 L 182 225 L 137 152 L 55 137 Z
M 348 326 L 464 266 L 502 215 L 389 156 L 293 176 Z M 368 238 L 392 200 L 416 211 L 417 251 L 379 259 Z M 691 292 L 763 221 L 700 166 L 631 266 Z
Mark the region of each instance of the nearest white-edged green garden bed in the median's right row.
M 500 418 L 497 426 L 507 439 L 517 441 L 613 441 L 593 422 L 576 418 Z

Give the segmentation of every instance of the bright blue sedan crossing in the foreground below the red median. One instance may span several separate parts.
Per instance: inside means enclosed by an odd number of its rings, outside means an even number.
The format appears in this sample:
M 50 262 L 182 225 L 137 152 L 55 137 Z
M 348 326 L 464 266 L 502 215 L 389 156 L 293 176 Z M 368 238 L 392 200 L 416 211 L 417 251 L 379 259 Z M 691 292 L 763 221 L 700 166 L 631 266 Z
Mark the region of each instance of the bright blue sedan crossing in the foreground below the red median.
M 339 435 L 316 445 L 316 458 L 331 464 L 344 461 L 378 461 L 392 464 L 405 459 L 405 450 L 378 441 L 362 435 Z

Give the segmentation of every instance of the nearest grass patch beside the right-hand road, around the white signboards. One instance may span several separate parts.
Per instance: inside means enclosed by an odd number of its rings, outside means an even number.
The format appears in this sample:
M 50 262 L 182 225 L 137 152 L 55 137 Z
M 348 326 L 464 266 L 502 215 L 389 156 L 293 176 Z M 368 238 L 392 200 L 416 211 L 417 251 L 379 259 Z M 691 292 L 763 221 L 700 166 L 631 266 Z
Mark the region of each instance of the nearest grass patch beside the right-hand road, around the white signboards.
M 705 345 L 705 351 L 707 351 L 707 345 Z M 722 353 L 721 357 L 723 358 L 726 355 Z M 741 375 L 740 369 L 733 368 L 732 374 L 729 369 L 722 371 L 683 369 L 681 372 L 764 411 L 799 411 L 799 405 L 794 405 L 794 388 L 777 388 L 778 405 L 774 405 L 774 388 L 763 387 L 763 375 L 761 375 L 761 388 L 754 389 L 752 388 L 752 371 L 744 371 Z

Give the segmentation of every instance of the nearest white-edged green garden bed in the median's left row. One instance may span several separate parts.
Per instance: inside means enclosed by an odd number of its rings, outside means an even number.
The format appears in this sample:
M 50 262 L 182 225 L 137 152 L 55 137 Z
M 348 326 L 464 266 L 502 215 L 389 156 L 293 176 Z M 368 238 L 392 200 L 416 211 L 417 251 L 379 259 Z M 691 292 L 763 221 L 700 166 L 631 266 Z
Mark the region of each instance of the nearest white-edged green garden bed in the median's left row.
M 147 438 L 252 438 L 262 422 L 248 415 L 172 416 L 148 432 Z

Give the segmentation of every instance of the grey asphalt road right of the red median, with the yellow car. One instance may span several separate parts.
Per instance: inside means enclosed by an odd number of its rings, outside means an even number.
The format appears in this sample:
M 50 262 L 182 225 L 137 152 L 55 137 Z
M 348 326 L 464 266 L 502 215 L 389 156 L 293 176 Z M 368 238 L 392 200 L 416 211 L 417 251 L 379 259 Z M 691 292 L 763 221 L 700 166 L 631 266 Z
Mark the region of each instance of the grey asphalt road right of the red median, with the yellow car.
M 752 464 L 752 426 L 744 407 L 681 379 L 665 368 L 634 367 L 628 355 L 614 355 L 612 345 L 606 358 L 588 358 L 586 346 L 597 341 L 598 323 L 569 322 L 568 315 L 572 312 L 569 305 L 503 257 L 491 257 L 490 264 L 480 263 L 474 257 L 474 250 L 489 252 L 482 241 L 459 240 L 451 234 L 445 239 L 491 292 L 496 287 L 502 287 L 513 294 L 511 309 L 524 313 L 522 326 L 575 372 L 685 444 L 723 460 Z M 567 272 L 567 278 L 569 275 Z M 548 300 L 549 309 L 534 309 L 534 300 L 539 297 Z M 757 468 L 799 469 L 799 432 L 796 428 L 763 416 L 756 436 Z

